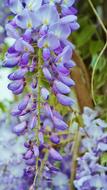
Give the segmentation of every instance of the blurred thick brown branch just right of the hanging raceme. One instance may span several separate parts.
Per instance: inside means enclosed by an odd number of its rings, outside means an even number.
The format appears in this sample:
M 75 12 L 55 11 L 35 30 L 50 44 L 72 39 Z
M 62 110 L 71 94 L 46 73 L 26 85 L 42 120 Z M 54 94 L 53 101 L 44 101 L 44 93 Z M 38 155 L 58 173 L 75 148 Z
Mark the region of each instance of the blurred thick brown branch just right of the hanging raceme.
M 76 83 L 75 91 L 78 99 L 78 104 L 82 112 L 84 106 L 91 108 L 93 107 L 90 90 L 90 77 L 84 62 L 76 51 L 73 53 L 73 60 L 76 63 L 76 67 L 72 69 L 71 77 Z

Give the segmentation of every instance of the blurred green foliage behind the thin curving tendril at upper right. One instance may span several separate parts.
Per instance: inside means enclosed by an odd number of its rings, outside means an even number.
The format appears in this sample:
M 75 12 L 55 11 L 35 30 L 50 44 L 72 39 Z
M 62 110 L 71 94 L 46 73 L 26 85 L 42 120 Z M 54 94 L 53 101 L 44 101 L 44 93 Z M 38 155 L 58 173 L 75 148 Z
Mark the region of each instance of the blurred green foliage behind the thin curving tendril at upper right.
M 104 25 L 107 26 L 107 1 L 93 0 L 92 3 Z M 80 29 L 73 33 L 72 40 L 86 64 L 91 78 L 96 59 L 106 42 L 106 35 L 88 0 L 79 1 L 77 6 Z M 107 120 L 107 50 L 101 56 L 96 67 L 94 95 L 97 106 L 102 108 L 102 117 Z

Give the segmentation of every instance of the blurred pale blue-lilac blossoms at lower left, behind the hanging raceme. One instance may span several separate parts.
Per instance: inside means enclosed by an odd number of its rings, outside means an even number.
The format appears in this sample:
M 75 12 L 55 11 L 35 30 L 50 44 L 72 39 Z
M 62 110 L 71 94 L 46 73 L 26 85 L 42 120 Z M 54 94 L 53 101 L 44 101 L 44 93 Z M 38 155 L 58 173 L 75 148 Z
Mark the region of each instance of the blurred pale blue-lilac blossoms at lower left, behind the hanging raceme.
M 24 180 L 25 163 L 22 154 L 25 151 L 24 137 L 16 139 L 10 129 L 11 122 L 7 114 L 0 118 L 0 190 L 28 190 Z M 16 122 L 16 120 L 14 121 Z M 4 140 L 5 139 L 5 140 Z

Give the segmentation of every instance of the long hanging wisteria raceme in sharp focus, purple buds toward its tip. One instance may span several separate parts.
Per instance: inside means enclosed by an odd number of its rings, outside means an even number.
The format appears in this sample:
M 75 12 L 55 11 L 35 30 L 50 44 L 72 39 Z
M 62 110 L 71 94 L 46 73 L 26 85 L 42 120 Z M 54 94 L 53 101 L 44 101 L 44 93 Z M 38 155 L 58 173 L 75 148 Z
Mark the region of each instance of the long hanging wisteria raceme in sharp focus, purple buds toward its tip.
M 11 80 L 8 89 L 15 95 L 27 93 L 12 115 L 20 118 L 13 131 L 27 138 L 23 158 L 27 164 L 25 177 L 30 184 L 46 165 L 47 154 L 48 159 L 62 160 L 53 144 L 65 138 L 58 133 L 67 130 L 68 125 L 49 105 L 49 100 L 54 94 L 63 106 L 74 103 L 70 97 L 71 87 L 75 85 L 70 78 L 70 69 L 75 66 L 71 60 L 74 46 L 68 41 L 79 27 L 74 3 L 75 0 L 8 1 L 14 18 L 6 29 L 15 42 L 6 53 L 3 66 L 17 68 L 8 76 Z

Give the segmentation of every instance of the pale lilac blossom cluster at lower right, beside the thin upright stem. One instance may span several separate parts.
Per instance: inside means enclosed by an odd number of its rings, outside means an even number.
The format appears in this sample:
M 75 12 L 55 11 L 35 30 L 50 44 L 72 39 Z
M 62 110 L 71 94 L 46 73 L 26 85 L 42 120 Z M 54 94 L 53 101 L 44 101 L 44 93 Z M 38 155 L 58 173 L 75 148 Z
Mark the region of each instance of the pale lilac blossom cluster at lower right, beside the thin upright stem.
M 78 158 L 75 187 L 78 190 L 107 189 L 107 167 L 101 158 L 107 152 L 107 123 L 97 118 L 98 113 L 84 109 L 84 138 L 81 147 L 84 155 Z

